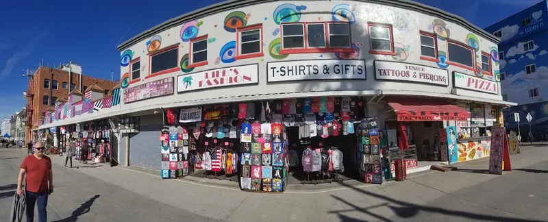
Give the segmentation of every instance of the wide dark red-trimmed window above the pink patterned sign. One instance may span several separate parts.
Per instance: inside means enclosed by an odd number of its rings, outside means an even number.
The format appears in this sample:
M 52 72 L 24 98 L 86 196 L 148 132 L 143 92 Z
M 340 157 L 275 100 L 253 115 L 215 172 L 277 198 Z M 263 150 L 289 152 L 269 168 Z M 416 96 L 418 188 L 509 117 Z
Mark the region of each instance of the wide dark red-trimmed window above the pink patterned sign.
M 179 60 L 178 43 L 151 53 L 149 55 L 149 75 L 145 79 L 178 71 L 180 68 L 177 60 Z

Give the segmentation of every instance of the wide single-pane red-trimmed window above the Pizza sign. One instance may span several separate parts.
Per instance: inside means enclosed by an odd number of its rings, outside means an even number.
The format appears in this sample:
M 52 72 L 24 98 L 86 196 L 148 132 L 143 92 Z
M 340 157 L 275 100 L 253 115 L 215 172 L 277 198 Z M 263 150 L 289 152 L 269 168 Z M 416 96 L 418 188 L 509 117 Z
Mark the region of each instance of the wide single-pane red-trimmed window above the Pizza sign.
M 476 71 L 475 51 L 461 42 L 447 39 L 447 64 Z

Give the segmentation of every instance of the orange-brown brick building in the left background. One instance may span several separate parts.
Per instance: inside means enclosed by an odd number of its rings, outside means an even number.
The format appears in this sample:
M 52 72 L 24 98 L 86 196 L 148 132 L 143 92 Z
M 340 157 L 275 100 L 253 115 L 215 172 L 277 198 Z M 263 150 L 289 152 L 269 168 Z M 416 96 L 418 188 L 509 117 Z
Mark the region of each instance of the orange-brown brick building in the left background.
M 57 99 L 66 99 L 72 90 L 84 92 L 93 84 L 103 89 L 104 95 L 111 95 L 112 88 L 118 82 L 82 75 L 82 66 L 73 62 L 57 69 L 40 66 L 29 79 L 27 90 L 27 139 L 32 139 L 32 130 L 38 128 L 38 119 L 45 116 L 48 108 L 55 105 Z

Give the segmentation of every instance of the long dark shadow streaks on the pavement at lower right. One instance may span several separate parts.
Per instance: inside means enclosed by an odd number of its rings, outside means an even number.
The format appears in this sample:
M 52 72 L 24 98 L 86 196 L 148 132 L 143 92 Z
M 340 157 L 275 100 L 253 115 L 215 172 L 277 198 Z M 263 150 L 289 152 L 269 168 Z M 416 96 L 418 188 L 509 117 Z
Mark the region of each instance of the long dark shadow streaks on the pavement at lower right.
M 348 186 L 347 184 L 344 184 L 344 183 L 339 183 L 339 184 L 341 186 L 346 186 L 348 188 L 351 188 L 352 190 L 356 190 L 359 193 L 362 193 L 364 195 L 369 195 L 370 197 L 377 197 L 379 199 L 384 199 L 385 201 L 388 201 L 388 203 L 379 204 L 379 205 L 376 205 L 376 206 L 369 206 L 369 207 L 364 208 L 362 206 L 358 206 L 358 205 L 353 204 L 349 201 L 346 201 L 345 199 L 342 199 L 340 197 L 336 197 L 334 195 L 331 195 L 334 199 L 337 199 L 338 201 L 341 201 L 341 202 L 347 204 L 347 206 L 351 207 L 350 209 L 345 209 L 345 210 L 328 211 L 329 214 L 338 214 L 338 217 L 341 219 L 341 221 L 361 221 L 361 220 L 353 219 L 353 218 L 350 218 L 350 217 L 347 217 L 347 216 L 341 214 L 343 212 L 358 211 L 358 212 L 362 212 L 364 214 L 369 214 L 372 217 L 377 218 L 378 221 L 391 222 L 392 220 L 388 219 L 387 217 L 382 216 L 381 214 L 379 214 L 378 212 L 375 212 L 375 210 L 373 210 L 374 208 L 378 208 L 378 207 L 381 207 L 381 206 L 388 206 L 394 212 L 395 215 L 397 215 L 398 217 L 401 217 L 401 218 L 405 218 L 405 219 L 415 217 L 416 214 L 418 214 L 419 212 L 432 212 L 432 213 L 447 215 L 447 216 L 450 216 L 450 217 L 461 217 L 463 219 L 466 219 L 467 221 L 470 220 L 470 221 L 501 221 L 501 222 L 537 222 L 537 221 L 531 220 L 531 219 L 516 219 L 516 218 L 511 218 L 511 217 L 490 216 L 490 215 L 476 214 L 476 213 L 472 213 L 472 212 L 464 212 L 464 211 L 458 211 L 458 210 L 448 210 L 448 209 L 445 209 L 445 208 L 439 208 L 439 207 L 434 207 L 434 206 L 423 206 L 423 205 L 419 205 L 419 204 L 412 204 L 412 203 L 408 203 L 406 201 L 401 201 L 399 199 L 394 199 L 392 197 L 379 195 L 378 193 L 373 193 L 373 192 L 363 190 L 363 189 L 360 189 L 360 188 L 354 188 L 354 187 Z

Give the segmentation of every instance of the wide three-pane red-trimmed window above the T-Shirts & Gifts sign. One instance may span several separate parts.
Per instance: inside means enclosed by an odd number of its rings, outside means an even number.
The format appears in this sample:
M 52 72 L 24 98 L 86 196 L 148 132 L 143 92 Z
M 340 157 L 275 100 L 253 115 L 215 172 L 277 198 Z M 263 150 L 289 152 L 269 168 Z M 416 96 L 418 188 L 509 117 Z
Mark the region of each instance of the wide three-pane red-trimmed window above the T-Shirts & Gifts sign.
M 354 51 L 349 23 L 282 23 L 280 33 L 280 54 Z

